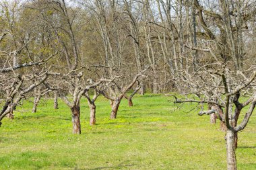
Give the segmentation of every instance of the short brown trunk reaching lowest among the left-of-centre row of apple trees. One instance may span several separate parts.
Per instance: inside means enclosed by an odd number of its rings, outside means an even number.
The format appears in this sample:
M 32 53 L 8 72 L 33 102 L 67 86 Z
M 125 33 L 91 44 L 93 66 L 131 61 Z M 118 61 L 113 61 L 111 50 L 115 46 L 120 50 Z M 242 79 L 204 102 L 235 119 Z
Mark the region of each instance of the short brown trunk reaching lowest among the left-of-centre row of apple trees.
M 74 106 L 73 108 L 71 108 L 71 112 L 72 112 L 73 134 L 81 134 L 80 107 Z

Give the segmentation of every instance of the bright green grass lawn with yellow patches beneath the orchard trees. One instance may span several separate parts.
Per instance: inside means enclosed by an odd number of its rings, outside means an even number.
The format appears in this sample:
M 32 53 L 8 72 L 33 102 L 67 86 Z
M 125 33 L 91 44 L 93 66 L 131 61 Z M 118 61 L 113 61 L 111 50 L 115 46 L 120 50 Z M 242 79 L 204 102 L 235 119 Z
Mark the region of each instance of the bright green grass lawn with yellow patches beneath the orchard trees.
M 71 113 L 59 102 L 41 101 L 15 111 L 0 128 L 0 169 L 226 169 L 224 132 L 208 116 L 181 110 L 163 95 L 135 96 L 109 120 L 110 105 L 96 101 L 96 126 L 82 100 L 82 134 L 71 134 Z M 188 113 L 189 112 L 189 113 Z M 256 169 L 256 114 L 238 134 L 238 169 Z M 243 116 L 242 116 L 243 118 Z

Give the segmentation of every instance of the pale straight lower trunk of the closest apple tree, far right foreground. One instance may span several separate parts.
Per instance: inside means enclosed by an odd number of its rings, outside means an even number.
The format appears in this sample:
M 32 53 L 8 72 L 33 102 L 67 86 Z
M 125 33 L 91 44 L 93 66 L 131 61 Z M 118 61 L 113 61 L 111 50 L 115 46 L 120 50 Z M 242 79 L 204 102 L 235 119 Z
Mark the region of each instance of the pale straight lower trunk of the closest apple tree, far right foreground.
M 236 153 L 233 130 L 226 130 L 226 161 L 228 170 L 236 170 Z

